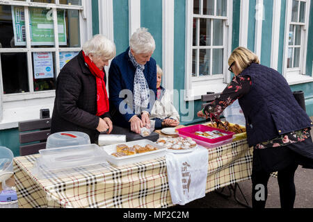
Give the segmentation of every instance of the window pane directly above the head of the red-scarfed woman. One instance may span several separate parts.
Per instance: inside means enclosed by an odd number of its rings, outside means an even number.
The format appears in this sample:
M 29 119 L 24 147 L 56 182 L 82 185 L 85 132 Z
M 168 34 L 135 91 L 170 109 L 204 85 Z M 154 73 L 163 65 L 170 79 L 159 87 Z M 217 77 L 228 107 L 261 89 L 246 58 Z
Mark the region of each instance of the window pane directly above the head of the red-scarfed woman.
M 65 19 L 59 19 L 63 18 Z M 80 47 L 79 11 L 58 10 L 58 41 L 61 47 Z

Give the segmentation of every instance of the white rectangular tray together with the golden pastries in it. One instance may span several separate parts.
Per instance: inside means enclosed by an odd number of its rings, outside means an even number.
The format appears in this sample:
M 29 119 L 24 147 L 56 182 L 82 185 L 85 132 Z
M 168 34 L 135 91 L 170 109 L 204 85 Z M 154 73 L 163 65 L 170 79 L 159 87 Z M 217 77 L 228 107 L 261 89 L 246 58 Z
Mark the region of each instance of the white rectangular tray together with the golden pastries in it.
M 134 164 L 155 158 L 163 157 L 166 148 L 159 144 L 155 144 L 148 139 L 126 142 L 123 144 L 112 144 L 102 146 L 106 153 L 108 162 L 116 166 Z

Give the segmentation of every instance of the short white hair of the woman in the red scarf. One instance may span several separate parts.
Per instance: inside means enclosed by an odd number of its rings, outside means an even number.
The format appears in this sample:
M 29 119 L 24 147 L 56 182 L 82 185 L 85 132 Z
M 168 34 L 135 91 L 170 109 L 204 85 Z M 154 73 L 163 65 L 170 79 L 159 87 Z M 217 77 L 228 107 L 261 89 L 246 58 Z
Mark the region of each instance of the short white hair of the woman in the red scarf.
M 86 56 L 93 53 L 95 56 L 111 60 L 115 57 L 116 48 L 114 42 L 104 35 L 98 34 L 83 44 L 83 52 Z

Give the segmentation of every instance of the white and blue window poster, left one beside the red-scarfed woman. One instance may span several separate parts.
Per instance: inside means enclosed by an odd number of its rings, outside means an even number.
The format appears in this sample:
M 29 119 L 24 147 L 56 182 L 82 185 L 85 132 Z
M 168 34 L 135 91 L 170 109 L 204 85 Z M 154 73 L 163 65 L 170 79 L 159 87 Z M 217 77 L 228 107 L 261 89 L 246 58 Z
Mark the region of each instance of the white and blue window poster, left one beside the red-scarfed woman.
M 51 52 L 33 53 L 34 78 L 54 78 L 54 60 Z

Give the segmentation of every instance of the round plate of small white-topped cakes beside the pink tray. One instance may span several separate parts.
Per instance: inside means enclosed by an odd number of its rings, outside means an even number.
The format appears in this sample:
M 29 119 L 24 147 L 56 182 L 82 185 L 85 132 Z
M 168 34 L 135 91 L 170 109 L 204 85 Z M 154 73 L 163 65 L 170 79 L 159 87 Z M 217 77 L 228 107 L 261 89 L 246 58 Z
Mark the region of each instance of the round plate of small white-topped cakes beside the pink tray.
M 165 146 L 166 148 L 172 150 L 185 150 L 197 146 L 195 141 L 191 137 L 176 137 L 176 138 L 167 138 L 162 137 L 157 140 L 157 144 Z

